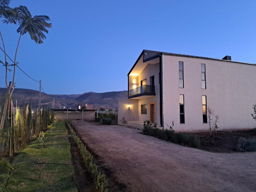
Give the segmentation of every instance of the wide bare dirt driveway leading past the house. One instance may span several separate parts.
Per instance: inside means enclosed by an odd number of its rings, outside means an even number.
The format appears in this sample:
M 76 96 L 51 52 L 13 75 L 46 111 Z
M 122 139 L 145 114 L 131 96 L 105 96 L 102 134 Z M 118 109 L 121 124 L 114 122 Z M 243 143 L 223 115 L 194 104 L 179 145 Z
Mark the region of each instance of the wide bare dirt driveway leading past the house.
M 256 152 L 211 153 L 120 125 L 72 121 L 127 191 L 256 191 Z

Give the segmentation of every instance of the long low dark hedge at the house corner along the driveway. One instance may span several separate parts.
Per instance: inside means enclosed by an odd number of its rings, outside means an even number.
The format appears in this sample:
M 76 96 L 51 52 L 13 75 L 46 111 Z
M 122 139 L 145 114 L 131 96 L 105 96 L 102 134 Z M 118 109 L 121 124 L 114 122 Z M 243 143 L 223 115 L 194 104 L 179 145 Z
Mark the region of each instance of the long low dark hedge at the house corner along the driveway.
M 148 125 L 144 126 L 143 129 L 144 135 L 154 136 L 159 139 L 170 141 L 172 143 L 177 143 L 180 145 L 186 145 L 189 147 L 199 147 L 200 146 L 200 137 L 195 134 L 187 134 L 182 132 L 174 132 L 167 129 L 158 129 Z

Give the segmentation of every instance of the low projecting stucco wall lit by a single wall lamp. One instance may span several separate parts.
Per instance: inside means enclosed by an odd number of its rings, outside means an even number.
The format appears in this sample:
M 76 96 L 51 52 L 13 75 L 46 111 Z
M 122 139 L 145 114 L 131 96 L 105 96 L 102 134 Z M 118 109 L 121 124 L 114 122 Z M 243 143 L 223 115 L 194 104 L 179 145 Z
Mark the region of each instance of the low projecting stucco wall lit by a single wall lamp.
M 131 105 L 130 108 L 128 105 Z M 137 99 L 118 99 L 118 122 L 125 117 L 126 121 L 138 121 L 138 100 Z

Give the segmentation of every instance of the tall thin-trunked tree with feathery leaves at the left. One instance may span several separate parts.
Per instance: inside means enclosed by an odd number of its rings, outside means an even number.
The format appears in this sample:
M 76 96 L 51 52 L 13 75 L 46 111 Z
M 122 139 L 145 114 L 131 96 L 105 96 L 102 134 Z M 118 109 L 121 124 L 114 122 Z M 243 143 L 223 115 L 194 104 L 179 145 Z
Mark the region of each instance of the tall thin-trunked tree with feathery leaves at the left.
M 0 130 L 3 130 L 4 127 L 4 119 L 6 116 L 6 111 L 8 108 L 8 102 L 10 97 L 12 96 L 12 92 L 15 88 L 15 70 L 18 62 L 17 59 L 17 53 L 19 48 L 19 43 L 22 35 L 28 33 L 30 35 L 30 38 L 34 40 L 37 44 L 43 43 L 42 40 L 46 39 L 46 36 L 44 33 L 48 34 L 48 30 L 46 28 L 51 28 L 52 25 L 50 23 L 47 23 L 50 21 L 50 18 L 46 15 L 36 15 L 34 17 L 31 16 L 29 10 L 25 6 L 19 6 L 15 8 L 8 7 L 10 3 L 10 0 L 0 0 L 0 18 L 5 18 L 3 20 L 3 23 L 9 24 L 18 24 L 19 27 L 17 29 L 17 33 L 20 34 L 15 57 L 14 57 L 14 63 L 9 65 L 6 60 L 6 50 L 4 46 L 4 40 L 0 31 L 3 47 L 4 47 L 4 53 L 5 53 L 5 62 L 0 61 L 5 66 L 5 84 L 8 88 L 7 96 L 5 100 L 5 105 L 3 109 L 3 115 L 2 115 L 2 121 L 0 125 Z M 13 67 L 13 78 L 12 81 L 9 81 L 9 84 L 7 84 L 7 72 L 8 70 L 11 71 L 8 67 Z M 12 91 L 11 91 L 12 90 Z

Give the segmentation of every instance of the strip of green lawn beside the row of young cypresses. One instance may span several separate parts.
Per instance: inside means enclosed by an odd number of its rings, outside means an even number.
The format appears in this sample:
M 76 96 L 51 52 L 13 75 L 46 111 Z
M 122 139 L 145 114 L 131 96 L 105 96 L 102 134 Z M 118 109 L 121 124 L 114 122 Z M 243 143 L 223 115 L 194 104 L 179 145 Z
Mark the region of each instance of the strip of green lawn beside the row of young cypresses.
M 34 181 L 23 182 L 13 188 L 15 191 L 77 191 L 72 180 L 75 171 L 71 161 L 70 144 L 65 122 L 56 123 L 56 129 L 50 133 L 45 131 L 45 148 L 27 148 L 17 151 L 18 155 L 13 157 L 11 163 L 25 161 L 23 170 L 31 172 L 29 178 Z M 26 147 L 40 147 L 38 140 L 31 142 Z M 39 163 L 62 163 L 37 164 Z

